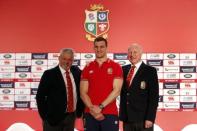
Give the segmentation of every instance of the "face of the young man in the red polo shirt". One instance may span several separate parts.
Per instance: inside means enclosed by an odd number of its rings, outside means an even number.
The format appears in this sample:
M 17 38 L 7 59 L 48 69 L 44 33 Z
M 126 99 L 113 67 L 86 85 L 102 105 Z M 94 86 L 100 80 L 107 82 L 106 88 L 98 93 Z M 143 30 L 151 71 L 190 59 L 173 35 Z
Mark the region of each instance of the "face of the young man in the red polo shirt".
M 107 55 L 107 46 L 105 41 L 98 41 L 94 43 L 94 51 L 96 58 L 104 58 Z

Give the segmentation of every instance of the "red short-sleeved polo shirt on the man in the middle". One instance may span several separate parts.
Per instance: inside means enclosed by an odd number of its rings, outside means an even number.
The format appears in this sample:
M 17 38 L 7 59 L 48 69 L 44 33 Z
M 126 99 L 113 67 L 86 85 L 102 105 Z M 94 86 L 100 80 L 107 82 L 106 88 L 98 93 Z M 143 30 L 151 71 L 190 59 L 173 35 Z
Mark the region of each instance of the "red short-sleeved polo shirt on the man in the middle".
M 86 65 L 83 69 L 81 80 L 88 81 L 88 96 L 94 105 L 102 103 L 112 92 L 115 78 L 122 79 L 122 68 L 118 63 L 110 59 L 107 59 L 101 66 L 96 60 Z M 89 112 L 88 108 L 86 108 L 86 112 Z M 102 113 L 117 115 L 116 100 L 108 104 Z

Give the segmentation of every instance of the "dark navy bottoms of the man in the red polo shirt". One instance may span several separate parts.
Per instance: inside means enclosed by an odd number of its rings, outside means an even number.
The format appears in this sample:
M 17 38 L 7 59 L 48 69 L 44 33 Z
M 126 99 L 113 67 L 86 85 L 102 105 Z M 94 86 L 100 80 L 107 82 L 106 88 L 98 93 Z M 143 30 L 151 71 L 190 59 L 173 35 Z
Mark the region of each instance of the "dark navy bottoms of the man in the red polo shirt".
M 118 131 L 119 120 L 116 115 L 104 115 L 105 119 L 98 121 L 89 113 L 85 114 L 84 131 Z

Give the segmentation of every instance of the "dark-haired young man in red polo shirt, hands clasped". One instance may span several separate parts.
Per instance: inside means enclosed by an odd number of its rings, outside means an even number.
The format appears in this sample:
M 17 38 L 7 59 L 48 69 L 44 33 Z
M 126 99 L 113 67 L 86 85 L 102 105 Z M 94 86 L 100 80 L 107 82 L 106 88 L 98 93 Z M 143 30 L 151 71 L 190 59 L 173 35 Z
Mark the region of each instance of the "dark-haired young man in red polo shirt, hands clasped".
M 80 94 L 86 105 L 86 131 L 118 131 L 116 97 L 122 87 L 122 69 L 107 58 L 107 40 L 94 40 L 96 59 L 84 68 L 81 75 Z

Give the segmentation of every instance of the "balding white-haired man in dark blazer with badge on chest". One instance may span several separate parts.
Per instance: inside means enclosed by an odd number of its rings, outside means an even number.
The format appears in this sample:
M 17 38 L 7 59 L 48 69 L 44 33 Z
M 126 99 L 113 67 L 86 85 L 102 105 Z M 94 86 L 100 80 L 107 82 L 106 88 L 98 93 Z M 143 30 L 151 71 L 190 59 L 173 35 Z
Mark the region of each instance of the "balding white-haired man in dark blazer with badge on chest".
M 120 120 L 124 131 L 153 131 L 159 85 L 157 71 L 142 60 L 142 48 L 128 49 L 130 65 L 123 66 L 124 82 L 120 96 Z

